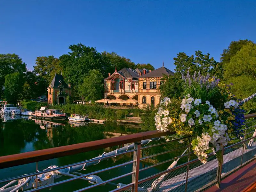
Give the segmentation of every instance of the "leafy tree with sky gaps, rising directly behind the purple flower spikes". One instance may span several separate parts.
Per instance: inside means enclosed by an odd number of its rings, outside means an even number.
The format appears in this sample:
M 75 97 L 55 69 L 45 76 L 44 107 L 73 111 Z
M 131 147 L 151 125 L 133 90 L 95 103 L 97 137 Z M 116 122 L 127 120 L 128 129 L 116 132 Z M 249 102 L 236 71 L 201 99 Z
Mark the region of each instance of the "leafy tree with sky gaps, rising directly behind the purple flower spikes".
M 180 52 L 173 60 L 176 72 L 187 74 L 189 70 L 191 75 L 195 71 L 200 71 L 202 75 L 207 75 L 207 73 L 214 75 L 214 69 L 218 64 L 213 57 L 210 57 L 209 53 L 203 54 L 201 51 L 196 51 L 195 56 L 188 56 L 186 53 Z

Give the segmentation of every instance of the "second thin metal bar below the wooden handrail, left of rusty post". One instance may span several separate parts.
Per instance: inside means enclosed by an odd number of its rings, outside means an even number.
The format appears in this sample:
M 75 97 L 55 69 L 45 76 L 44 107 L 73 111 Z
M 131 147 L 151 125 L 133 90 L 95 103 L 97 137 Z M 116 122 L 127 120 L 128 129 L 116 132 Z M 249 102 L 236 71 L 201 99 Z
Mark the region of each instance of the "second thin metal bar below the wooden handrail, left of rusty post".
M 112 167 L 108 167 L 108 168 L 105 168 L 105 169 L 101 169 L 101 170 L 98 170 L 98 171 L 95 171 L 95 172 L 87 173 L 87 174 L 84 174 L 84 175 L 81 175 L 81 176 L 78 176 L 78 177 L 73 177 L 73 178 L 70 178 L 70 179 L 62 180 L 62 181 L 59 181 L 57 183 L 52 183 L 50 185 L 43 186 L 43 187 L 40 187 L 40 188 L 37 188 L 37 189 L 31 189 L 31 190 L 28 190 L 26 192 L 32 192 L 32 191 L 37 191 L 37 190 L 41 190 L 41 189 L 44 189 L 44 188 L 53 187 L 53 186 L 56 186 L 56 185 L 60 185 L 62 183 L 67 183 L 67 182 L 70 182 L 70 181 L 73 181 L 73 180 L 81 179 L 83 177 L 87 177 L 87 176 L 90 176 L 90 175 L 94 175 L 94 174 L 98 174 L 98 173 L 101 173 L 101 172 L 104 172 L 104 171 L 115 169 L 115 168 L 118 168 L 118 167 L 121 167 L 121 166 L 124 166 L 124 165 L 127 165 L 127 164 L 131 164 L 133 162 L 135 162 L 135 160 L 130 161 L 130 162 L 126 162 L 126 163 L 123 163 L 123 164 L 115 165 L 115 166 L 112 166 Z

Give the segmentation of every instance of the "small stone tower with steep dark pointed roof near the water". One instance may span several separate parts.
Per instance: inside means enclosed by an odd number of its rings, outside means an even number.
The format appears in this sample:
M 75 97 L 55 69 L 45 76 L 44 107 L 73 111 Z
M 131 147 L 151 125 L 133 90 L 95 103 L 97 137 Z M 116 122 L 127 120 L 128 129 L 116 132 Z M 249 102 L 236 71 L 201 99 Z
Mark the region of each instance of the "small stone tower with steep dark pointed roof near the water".
M 55 74 L 52 83 L 47 87 L 48 105 L 66 104 L 66 97 L 72 96 L 72 88 L 64 82 L 62 75 Z

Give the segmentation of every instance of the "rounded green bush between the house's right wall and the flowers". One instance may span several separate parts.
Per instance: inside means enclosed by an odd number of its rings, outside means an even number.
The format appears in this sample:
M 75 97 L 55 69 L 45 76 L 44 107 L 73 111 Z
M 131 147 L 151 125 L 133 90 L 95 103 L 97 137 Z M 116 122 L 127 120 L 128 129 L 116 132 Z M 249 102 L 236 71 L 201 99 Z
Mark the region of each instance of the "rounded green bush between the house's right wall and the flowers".
M 173 76 L 164 76 L 162 81 L 164 81 L 164 84 L 160 85 L 160 91 L 164 97 L 182 97 L 184 86 L 179 72 L 174 73 Z

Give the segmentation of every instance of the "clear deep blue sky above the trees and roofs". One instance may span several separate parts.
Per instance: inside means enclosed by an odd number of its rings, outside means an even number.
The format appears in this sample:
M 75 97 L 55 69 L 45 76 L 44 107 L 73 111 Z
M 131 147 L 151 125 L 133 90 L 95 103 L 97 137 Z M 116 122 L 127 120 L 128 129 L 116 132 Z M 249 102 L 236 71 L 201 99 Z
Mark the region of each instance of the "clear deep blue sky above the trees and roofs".
M 38 56 L 82 43 L 135 63 L 174 69 L 179 52 L 209 52 L 219 61 L 231 41 L 256 42 L 256 1 L 0 0 L 0 53 L 33 69 Z

